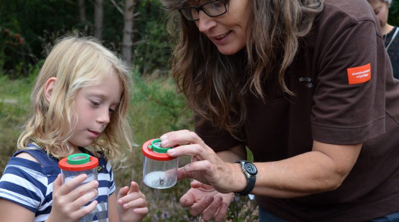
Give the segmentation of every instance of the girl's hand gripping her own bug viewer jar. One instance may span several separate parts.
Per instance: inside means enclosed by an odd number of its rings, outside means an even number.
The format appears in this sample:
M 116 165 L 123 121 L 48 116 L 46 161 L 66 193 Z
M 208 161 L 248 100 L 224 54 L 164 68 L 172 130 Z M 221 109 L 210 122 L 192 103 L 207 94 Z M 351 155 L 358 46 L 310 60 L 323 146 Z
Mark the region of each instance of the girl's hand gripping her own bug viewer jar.
M 47 222 L 76 222 L 96 208 L 97 201 L 82 208 L 97 196 L 98 181 L 76 187 L 86 179 L 87 175 L 82 174 L 62 185 L 61 175 L 57 176 L 53 182 L 53 202 Z

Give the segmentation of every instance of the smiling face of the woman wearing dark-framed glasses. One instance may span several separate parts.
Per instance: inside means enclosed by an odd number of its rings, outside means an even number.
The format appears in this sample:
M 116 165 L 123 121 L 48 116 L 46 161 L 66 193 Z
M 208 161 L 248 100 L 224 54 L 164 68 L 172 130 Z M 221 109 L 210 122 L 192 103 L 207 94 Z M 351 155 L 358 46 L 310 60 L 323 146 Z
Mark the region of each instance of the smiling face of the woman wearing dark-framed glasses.
M 200 0 L 197 5 L 208 1 Z M 200 19 L 195 22 L 200 32 L 204 33 L 222 54 L 231 55 L 246 44 L 246 28 L 251 11 L 251 0 L 230 0 L 225 14 L 209 17 L 200 10 Z

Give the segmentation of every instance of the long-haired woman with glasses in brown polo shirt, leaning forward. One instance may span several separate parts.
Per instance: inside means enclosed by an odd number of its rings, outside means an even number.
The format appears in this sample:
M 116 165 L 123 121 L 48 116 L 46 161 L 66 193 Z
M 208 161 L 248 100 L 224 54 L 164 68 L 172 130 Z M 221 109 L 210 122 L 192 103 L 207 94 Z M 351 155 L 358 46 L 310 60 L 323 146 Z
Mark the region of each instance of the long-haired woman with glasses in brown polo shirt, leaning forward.
M 196 123 L 161 137 L 192 156 L 183 207 L 222 221 L 252 194 L 261 222 L 399 220 L 399 85 L 366 0 L 161 1 Z

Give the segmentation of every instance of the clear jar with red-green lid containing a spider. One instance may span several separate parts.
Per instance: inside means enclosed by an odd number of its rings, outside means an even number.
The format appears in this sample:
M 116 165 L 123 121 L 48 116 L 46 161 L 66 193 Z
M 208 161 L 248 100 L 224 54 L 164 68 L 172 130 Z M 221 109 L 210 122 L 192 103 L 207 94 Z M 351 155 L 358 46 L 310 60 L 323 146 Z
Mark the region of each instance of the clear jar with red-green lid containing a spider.
M 160 139 L 152 139 L 143 144 L 143 181 L 155 189 L 173 187 L 178 178 L 179 158 L 167 154 L 169 149 L 161 146 Z

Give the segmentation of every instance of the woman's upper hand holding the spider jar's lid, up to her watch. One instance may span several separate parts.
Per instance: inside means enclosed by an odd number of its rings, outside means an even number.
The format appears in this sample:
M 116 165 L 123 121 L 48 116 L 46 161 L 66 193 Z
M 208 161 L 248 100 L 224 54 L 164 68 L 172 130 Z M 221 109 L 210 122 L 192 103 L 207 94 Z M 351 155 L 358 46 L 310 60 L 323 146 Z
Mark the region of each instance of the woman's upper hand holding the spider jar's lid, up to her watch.
M 179 180 L 193 178 L 224 194 L 245 188 L 246 180 L 240 166 L 221 160 L 196 133 L 188 130 L 175 131 L 161 136 L 161 140 L 163 147 L 180 145 L 169 149 L 169 156 L 192 156 L 191 163 L 179 169 Z

